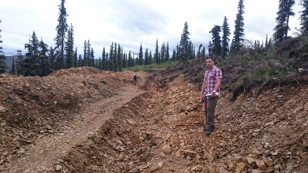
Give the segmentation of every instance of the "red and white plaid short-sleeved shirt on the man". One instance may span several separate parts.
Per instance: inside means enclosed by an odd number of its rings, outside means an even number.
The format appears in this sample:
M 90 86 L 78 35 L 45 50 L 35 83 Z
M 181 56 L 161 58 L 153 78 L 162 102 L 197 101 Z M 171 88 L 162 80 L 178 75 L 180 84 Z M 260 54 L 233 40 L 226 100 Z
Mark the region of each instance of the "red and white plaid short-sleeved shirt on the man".
M 211 94 L 215 88 L 216 85 L 216 79 L 217 78 L 222 78 L 222 71 L 216 67 L 213 66 L 211 70 L 209 70 L 209 68 L 205 71 L 204 73 L 204 78 L 203 80 L 206 81 L 205 82 L 205 90 L 204 90 L 204 94 Z M 218 87 L 216 92 L 220 91 L 220 87 Z

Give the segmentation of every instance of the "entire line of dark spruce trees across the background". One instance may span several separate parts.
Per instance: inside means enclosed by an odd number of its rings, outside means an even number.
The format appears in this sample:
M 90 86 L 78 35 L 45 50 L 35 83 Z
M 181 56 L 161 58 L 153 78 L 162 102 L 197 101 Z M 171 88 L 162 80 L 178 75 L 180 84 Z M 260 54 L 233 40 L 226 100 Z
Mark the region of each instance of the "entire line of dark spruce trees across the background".
M 234 55 L 239 53 L 244 48 L 258 48 L 268 47 L 274 44 L 279 44 L 284 39 L 289 38 L 288 31 L 289 17 L 294 16 L 295 13 L 292 7 L 295 4 L 295 0 L 279 0 L 278 12 L 276 23 L 274 27 L 274 34 L 268 40 L 266 35 L 265 43 L 260 43 L 259 40 L 255 40 L 254 43 L 245 40 L 244 36 L 244 18 L 243 14 L 245 6 L 244 0 L 238 1 L 237 14 L 233 39 L 230 41 L 230 27 L 228 19 L 225 16 L 222 25 L 214 25 L 209 31 L 212 34 L 212 38 L 209 41 L 208 54 L 217 58 L 223 58 L 227 55 Z M 85 40 L 83 43 L 83 54 L 77 53 L 77 47 L 74 49 L 74 26 L 68 26 L 67 24 L 67 12 L 65 8 L 65 0 L 61 0 L 59 7 L 58 25 L 56 26 L 57 35 L 54 39 L 55 46 L 48 46 L 37 38 L 33 31 L 32 36 L 29 38 L 29 42 L 25 44 L 26 53 L 22 55 L 22 50 L 17 50 L 17 58 L 14 59 L 12 67 L 10 69 L 11 74 L 21 74 L 24 76 L 46 76 L 51 72 L 59 69 L 67 69 L 71 67 L 80 66 L 94 66 L 100 70 L 112 70 L 121 71 L 122 68 L 132 67 L 136 65 L 148 65 L 151 63 L 164 63 L 167 61 L 182 61 L 187 62 L 193 58 L 204 58 L 205 46 L 201 50 L 202 43 L 195 54 L 195 46 L 189 38 L 188 24 L 184 23 L 183 33 L 180 37 L 180 42 L 176 45 L 176 48 L 172 50 L 172 55 L 169 55 L 169 42 L 161 44 L 159 49 L 158 39 L 156 40 L 155 51 L 152 53 L 148 48 L 143 50 L 142 43 L 140 49 L 135 52 L 125 52 L 123 47 L 119 43 L 112 42 L 109 52 L 103 47 L 102 56 L 98 59 L 94 56 L 94 50 L 91 47 L 90 41 Z M 300 0 L 303 10 L 300 11 L 300 25 L 298 30 L 300 34 L 308 34 L 308 0 Z M 1 20 L 0 20 L 1 23 Z M 1 32 L 1 30 L 0 30 Z M 1 35 L 0 35 L 1 38 Z M 0 43 L 2 41 L 0 40 Z M 8 67 L 4 60 L 2 47 L 0 47 L 0 73 L 6 72 Z M 143 53 L 144 52 L 144 53 Z M 152 56 L 153 54 L 153 56 Z

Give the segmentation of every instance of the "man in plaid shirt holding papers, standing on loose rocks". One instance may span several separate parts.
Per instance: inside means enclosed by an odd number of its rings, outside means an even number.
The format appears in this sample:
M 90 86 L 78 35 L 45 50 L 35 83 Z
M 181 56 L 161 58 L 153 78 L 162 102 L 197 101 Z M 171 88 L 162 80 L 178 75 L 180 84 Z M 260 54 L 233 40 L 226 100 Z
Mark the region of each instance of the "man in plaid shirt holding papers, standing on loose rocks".
M 211 56 L 206 57 L 206 66 L 203 84 L 201 89 L 201 101 L 205 100 L 205 131 L 206 135 L 210 135 L 214 126 L 214 112 L 217 103 L 217 99 L 220 92 L 220 84 L 222 79 L 222 71 L 214 65 L 214 58 Z

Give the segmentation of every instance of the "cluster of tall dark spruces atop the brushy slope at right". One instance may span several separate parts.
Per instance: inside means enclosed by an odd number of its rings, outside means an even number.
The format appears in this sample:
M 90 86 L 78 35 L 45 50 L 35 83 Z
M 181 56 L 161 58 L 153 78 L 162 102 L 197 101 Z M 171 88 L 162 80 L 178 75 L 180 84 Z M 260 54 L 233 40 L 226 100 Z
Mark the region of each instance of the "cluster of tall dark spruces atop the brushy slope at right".
M 277 25 L 274 27 L 274 34 L 268 40 L 268 35 L 266 34 L 265 42 L 262 40 L 260 44 L 260 40 L 255 40 L 253 43 L 250 40 L 245 40 L 244 36 L 244 18 L 243 14 L 245 13 L 244 9 L 244 0 L 239 0 L 237 6 L 237 14 L 234 31 L 233 31 L 233 39 L 229 46 L 229 36 L 231 34 L 230 27 L 228 24 L 228 20 L 225 16 L 223 20 L 222 26 L 214 25 L 209 33 L 212 34 L 212 40 L 209 41 L 208 52 L 212 56 L 216 57 L 225 57 L 226 55 L 234 55 L 239 53 L 243 48 L 262 48 L 269 47 L 273 45 L 279 45 L 283 40 L 290 38 L 288 36 L 288 31 L 290 31 L 289 26 L 289 18 L 290 16 L 294 16 L 295 13 L 292 7 L 295 5 L 295 0 L 279 0 L 278 12 L 276 17 Z M 296 28 L 299 35 L 307 35 L 308 34 L 308 0 L 300 0 L 300 4 L 302 6 L 300 25 L 299 29 Z M 222 32 L 222 37 L 221 33 Z M 200 51 L 200 47 L 199 47 Z

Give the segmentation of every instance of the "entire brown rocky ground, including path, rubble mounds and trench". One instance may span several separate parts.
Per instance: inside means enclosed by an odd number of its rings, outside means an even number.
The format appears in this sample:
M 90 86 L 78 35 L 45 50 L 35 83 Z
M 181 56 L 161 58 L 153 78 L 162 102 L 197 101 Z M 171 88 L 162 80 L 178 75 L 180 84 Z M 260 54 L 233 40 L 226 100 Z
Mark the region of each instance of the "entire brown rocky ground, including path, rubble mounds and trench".
M 191 76 L 137 72 L 133 85 L 133 73 L 1 74 L 0 173 L 308 172 L 306 76 L 234 102 L 222 91 L 207 136 Z

